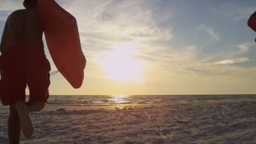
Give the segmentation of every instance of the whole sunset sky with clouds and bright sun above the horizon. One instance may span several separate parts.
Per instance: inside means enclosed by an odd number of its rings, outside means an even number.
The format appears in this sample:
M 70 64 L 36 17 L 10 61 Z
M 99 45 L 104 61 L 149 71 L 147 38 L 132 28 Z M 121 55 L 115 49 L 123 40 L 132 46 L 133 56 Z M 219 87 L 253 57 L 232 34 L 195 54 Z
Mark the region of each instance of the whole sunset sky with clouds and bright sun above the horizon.
M 77 19 L 83 85 L 58 73 L 51 95 L 255 94 L 253 0 L 56 0 Z M 1 0 L 0 35 L 22 0 Z M 52 67 L 56 67 L 45 53 Z

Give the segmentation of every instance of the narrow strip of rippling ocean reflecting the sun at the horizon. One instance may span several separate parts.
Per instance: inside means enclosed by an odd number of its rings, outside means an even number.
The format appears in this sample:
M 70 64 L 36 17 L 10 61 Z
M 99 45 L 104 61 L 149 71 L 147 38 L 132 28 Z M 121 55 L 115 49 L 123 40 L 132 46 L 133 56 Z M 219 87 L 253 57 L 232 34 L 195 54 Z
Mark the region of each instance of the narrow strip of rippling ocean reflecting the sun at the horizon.
M 28 99 L 28 96 L 26 97 Z M 98 95 L 50 96 L 47 107 L 101 106 L 117 104 L 173 103 L 187 101 L 250 100 L 256 95 Z M 0 109 L 8 107 L 0 104 Z

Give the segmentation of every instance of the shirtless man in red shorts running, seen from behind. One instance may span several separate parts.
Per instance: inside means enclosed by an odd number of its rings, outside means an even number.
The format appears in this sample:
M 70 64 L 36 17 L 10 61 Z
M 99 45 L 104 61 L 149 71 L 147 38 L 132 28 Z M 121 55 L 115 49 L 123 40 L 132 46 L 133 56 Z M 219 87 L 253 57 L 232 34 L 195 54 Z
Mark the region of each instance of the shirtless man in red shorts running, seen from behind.
M 29 112 L 42 110 L 49 98 L 51 67 L 44 53 L 37 0 L 24 0 L 23 4 L 26 9 L 8 16 L 0 44 L 0 99 L 3 105 L 10 105 L 10 144 L 19 144 L 21 130 L 27 138 L 32 136 Z M 25 103 L 27 85 L 29 101 Z

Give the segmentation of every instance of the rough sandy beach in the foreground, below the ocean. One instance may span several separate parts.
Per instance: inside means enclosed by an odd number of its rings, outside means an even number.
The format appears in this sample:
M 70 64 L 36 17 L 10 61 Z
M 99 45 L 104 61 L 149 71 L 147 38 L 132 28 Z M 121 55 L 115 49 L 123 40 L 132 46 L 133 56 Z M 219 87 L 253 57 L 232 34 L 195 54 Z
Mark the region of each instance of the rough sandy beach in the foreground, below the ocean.
M 177 102 L 45 108 L 31 114 L 35 134 L 23 144 L 256 144 L 256 101 Z M 76 109 L 76 110 L 73 110 Z M 8 143 L 0 111 L 0 144 Z

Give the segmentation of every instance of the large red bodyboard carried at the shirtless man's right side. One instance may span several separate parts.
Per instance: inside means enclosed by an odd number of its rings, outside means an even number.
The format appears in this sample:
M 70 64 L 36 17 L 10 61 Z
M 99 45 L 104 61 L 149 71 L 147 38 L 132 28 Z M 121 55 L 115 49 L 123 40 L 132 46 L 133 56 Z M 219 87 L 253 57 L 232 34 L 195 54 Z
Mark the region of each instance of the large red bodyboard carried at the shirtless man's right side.
M 76 19 L 54 0 L 37 2 L 53 62 L 73 88 L 80 88 L 86 59 L 81 49 Z

